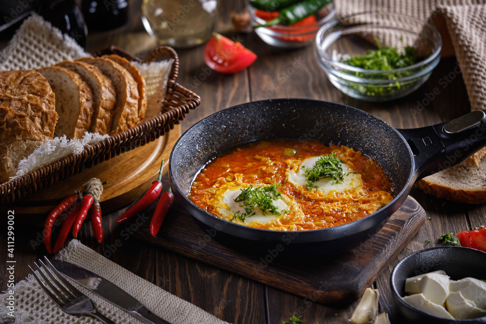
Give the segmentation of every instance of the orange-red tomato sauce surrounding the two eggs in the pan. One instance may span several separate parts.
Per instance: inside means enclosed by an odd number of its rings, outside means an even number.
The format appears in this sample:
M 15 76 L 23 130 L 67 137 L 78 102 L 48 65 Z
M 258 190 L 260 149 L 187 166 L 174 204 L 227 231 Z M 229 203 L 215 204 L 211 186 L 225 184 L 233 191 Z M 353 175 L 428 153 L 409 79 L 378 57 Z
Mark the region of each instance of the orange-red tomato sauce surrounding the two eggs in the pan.
M 361 176 L 360 186 L 323 194 L 288 181 L 289 171 L 298 170 L 303 160 L 331 153 L 336 153 L 351 171 Z M 215 205 L 221 200 L 218 197 L 220 188 L 273 183 L 280 184 L 282 195 L 290 197 L 298 206 L 299 215 L 303 216 L 284 217 L 278 224 L 252 223 L 249 226 L 279 230 L 337 226 L 361 219 L 393 199 L 392 183 L 373 159 L 345 146 L 284 139 L 253 142 L 217 157 L 196 176 L 189 198 L 204 210 L 222 217 Z

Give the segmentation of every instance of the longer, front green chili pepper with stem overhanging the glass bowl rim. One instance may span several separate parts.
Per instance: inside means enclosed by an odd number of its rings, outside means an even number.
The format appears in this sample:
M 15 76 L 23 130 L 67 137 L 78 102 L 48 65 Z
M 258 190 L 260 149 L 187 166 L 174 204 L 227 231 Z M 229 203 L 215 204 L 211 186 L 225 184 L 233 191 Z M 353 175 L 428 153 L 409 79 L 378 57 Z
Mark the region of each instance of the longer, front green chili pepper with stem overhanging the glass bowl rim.
M 294 5 L 282 9 L 278 13 L 278 17 L 267 21 L 265 24 L 253 26 L 257 27 L 268 27 L 273 25 L 283 25 L 288 26 L 295 24 L 296 22 L 304 19 L 305 17 L 311 16 L 319 11 L 322 7 L 330 3 L 332 0 L 305 0 Z

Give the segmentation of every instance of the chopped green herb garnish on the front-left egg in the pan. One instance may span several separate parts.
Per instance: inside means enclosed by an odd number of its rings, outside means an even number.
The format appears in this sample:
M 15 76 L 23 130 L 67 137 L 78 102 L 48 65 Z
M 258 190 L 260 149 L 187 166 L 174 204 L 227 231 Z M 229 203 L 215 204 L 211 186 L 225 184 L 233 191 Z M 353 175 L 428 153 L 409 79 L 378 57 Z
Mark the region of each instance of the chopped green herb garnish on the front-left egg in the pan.
M 281 213 L 278 211 L 277 206 L 272 202 L 273 200 L 280 198 L 282 195 L 282 193 L 278 190 L 279 186 L 280 184 L 274 183 L 270 186 L 253 188 L 253 186 L 250 184 L 248 188 L 241 189 L 242 192 L 238 195 L 238 197 L 236 197 L 236 199 L 234 199 L 234 201 L 236 203 L 243 202 L 240 204 L 240 207 L 244 207 L 245 212 L 241 213 L 240 211 L 236 211 L 231 221 L 237 217 L 244 222 L 245 217 L 255 215 L 253 210 L 256 206 L 260 207 L 263 215 L 266 215 L 267 212 L 280 215 Z

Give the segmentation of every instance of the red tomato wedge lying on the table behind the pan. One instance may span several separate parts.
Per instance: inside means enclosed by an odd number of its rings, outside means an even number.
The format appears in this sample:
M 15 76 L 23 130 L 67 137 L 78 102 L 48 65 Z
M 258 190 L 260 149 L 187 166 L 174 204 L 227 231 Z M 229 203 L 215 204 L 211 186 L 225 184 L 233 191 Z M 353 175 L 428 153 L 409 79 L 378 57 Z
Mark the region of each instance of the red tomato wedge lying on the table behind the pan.
M 240 42 L 233 42 L 216 33 L 209 39 L 204 49 L 204 61 L 208 67 L 221 73 L 231 74 L 243 71 L 256 59 L 257 55 Z

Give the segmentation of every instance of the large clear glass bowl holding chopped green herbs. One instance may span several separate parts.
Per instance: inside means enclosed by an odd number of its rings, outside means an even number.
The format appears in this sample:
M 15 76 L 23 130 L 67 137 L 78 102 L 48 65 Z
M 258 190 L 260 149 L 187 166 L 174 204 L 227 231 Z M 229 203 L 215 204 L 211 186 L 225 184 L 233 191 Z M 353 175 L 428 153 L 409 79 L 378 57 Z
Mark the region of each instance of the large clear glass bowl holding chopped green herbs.
M 357 68 L 341 62 L 368 50 L 406 46 L 415 49 L 417 63 L 392 70 Z M 320 66 L 330 82 L 350 97 L 383 102 L 415 91 L 431 75 L 440 60 L 442 39 L 428 23 L 403 15 L 364 12 L 333 19 L 316 34 L 315 46 Z M 348 56 L 349 55 L 349 56 Z

